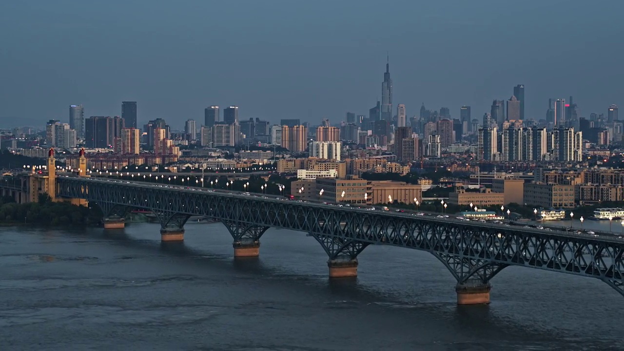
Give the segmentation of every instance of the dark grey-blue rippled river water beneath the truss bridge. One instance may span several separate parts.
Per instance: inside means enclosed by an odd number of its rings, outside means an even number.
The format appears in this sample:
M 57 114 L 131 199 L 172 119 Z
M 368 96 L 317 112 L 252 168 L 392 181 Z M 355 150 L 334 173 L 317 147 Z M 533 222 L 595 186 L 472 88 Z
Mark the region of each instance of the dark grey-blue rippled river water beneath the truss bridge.
M 330 281 L 311 237 L 270 229 L 234 260 L 222 224 L 0 228 L 0 350 L 621 350 L 624 297 L 597 279 L 508 267 L 457 306 L 432 255 L 369 246 Z

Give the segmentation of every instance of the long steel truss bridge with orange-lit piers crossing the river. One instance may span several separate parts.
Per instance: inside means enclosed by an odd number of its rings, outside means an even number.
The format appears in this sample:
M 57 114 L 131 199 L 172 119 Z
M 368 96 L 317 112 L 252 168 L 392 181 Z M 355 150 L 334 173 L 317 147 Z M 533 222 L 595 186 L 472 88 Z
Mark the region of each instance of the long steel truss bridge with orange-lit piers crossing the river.
M 283 197 L 177 185 L 61 175 L 57 196 L 89 200 L 104 212 L 107 229 L 124 227 L 127 210 L 157 215 L 163 241 L 183 240 L 192 215 L 220 220 L 232 234 L 235 257 L 257 256 L 269 227 L 309 233 L 329 256 L 330 277 L 357 275 L 358 254 L 370 244 L 430 252 L 456 278 L 458 304 L 490 301 L 490 280 L 505 267 L 594 277 L 624 295 L 624 240 L 409 212 L 389 212 Z M 273 195 L 275 196 L 275 195 Z

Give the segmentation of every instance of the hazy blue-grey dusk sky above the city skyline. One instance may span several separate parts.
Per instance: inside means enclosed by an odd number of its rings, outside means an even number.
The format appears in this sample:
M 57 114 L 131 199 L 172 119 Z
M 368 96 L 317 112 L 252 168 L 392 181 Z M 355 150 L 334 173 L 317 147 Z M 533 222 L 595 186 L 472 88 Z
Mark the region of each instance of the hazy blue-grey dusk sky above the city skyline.
M 393 108 L 471 106 L 525 85 L 525 117 L 574 97 L 624 106 L 621 0 L 0 1 L 0 128 L 119 116 L 173 129 L 203 109 L 319 124 L 368 116 L 389 55 Z M 223 113 L 223 112 L 222 112 Z M 223 114 L 222 114 L 223 116 Z

